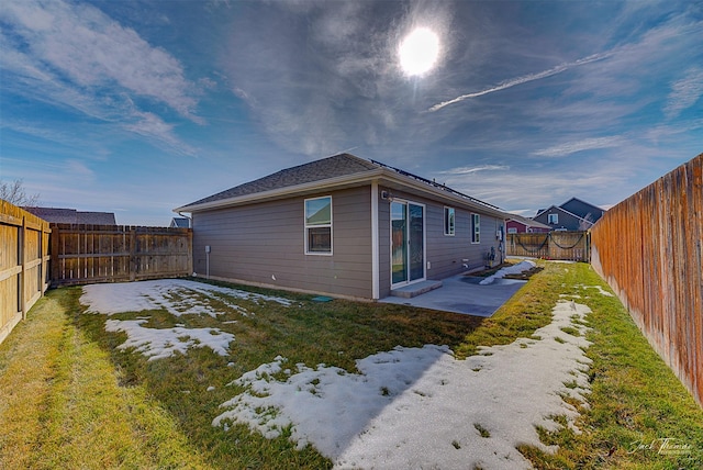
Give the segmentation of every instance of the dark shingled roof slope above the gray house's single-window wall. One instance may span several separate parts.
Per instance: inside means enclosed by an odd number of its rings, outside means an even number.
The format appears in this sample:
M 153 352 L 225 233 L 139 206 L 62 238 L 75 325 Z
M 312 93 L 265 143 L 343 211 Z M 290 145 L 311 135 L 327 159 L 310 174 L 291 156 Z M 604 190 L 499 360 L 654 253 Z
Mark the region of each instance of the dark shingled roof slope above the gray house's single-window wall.
M 239 195 L 255 194 L 257 192 L 271 191 L 275 189 L 288 188 L 297 184 L 304 184 L 312 181 L 322 181 L 347 175 L 354 175 L 380 168 L 373 164 L 349 154 L 339 154 L 297 167 L 287 168 L 272 175 L 259 178 L 244 184 L 235 186 L 225 191 L 219 192 L 188 205 L 202 204 L 207 202 L 221 201 Z

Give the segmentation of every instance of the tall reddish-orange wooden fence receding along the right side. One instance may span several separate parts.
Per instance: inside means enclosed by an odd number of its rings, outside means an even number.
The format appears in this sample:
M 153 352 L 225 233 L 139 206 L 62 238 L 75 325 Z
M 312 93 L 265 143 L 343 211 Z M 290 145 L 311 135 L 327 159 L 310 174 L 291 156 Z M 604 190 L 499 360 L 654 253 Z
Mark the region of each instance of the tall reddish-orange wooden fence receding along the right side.
M 703 154 L 609 210 L 592 266 L 703 406 Z

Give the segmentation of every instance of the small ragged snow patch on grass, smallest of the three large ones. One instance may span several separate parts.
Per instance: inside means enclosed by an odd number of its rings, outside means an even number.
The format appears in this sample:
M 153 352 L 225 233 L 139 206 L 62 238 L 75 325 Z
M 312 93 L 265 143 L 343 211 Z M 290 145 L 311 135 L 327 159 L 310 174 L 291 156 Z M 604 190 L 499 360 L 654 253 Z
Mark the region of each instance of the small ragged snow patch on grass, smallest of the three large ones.
M 135 348 L 148 357 L 148 360 L 163 359 L 174 356 L 176 352 L 187 354 L 188 348 L 209 347 L 220 356 L 227 356 L 227 347 L 234 340 L 234 335 L 217 328 L 146 328 L 140 320 L 108 320 L 105 332 L 124 332 L 127 340 L 118 346 L 118 349 Z

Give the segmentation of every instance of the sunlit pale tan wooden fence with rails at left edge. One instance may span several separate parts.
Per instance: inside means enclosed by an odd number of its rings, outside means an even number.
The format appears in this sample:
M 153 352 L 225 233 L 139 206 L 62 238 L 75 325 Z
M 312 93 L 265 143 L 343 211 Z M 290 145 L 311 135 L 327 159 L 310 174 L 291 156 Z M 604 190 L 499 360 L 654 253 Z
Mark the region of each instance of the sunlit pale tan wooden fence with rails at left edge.
M 48 222 L 0 200 L 0 343 L 49 282 Z

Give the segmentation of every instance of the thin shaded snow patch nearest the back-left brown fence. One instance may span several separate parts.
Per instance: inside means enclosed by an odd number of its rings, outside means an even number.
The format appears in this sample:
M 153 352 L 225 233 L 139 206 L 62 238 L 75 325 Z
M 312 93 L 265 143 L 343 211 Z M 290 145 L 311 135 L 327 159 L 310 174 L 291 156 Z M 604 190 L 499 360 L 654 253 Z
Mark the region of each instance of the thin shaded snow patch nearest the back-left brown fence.
M 230 299 L 263 302 L 277 302 L 290 306 L 288 299 L 246 292 L 239 289 L 224 288 L 185 279 L 159 279 L 154 281 L 90 284 L 83 287 L 80 303 L 88 305 L 88 313 L 112 315 L 124 312 L 165 309 L 171 315 L 210 315 L 216 317 L 222 312 L 215 302 L 248 315 L 246 309 Z

